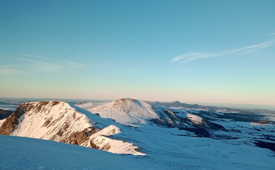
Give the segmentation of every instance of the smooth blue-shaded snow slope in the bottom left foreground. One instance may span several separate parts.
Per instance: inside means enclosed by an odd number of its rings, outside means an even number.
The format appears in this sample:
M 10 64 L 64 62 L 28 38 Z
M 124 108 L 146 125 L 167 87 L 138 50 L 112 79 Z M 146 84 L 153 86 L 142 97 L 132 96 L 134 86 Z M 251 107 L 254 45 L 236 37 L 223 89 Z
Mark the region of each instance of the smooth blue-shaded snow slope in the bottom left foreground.
M 54 141 L 0 136 L 0 170 L 155 169 L 140 156 L 123 156 Z M 136 164 L 142 162 L 142 164 Z M 149 168 L 150 167 L 150 168 Z

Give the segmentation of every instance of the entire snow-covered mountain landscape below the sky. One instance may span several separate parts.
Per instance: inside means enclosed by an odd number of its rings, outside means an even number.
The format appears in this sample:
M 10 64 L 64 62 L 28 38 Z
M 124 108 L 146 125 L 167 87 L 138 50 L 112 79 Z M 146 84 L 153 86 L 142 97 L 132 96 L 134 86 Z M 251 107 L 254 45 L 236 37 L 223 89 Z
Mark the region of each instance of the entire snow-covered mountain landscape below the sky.
M 25 102 L 0 120 L 0 169 L 275 169 L 275 111 Z

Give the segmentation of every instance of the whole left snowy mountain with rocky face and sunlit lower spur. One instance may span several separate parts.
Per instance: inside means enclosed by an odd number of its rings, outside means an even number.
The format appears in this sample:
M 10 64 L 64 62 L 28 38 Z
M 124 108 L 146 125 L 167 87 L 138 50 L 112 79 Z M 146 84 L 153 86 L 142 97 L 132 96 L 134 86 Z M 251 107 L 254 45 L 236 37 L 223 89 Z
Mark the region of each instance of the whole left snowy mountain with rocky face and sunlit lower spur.
M 82 112 L 81 112 L 82 111 Z M 138 147 L 125 141 L 108 139 L 106 136 L 120 133 L 110 119 L 102 119 L 81 108 L 60 101 L 43 101 L 20 104 L 4 122 L 1 122 L 0 134 L 81 145 L 86 141 L 87 147 L 97 148 L 113 153 L 141 154 Z M 112 132 L 112 133 L 110 133 Z M 94 134 L 94 135 L 93 135 Z M 91 136 L 92 135 L 92 136 Z M 103 136 L 101 136 L 103 135 Z M 96 139 L 101 140 L 96 143 Z M 93 141 L 93 145 L 90 143 Z M 116 145 L 110 146 L 115 143 Z M 84 145 L 84 144 L 83 144 Z M 124 147 L 131 145 L 133 147 Z M 113 147 L 121 149 L 113 149 Z

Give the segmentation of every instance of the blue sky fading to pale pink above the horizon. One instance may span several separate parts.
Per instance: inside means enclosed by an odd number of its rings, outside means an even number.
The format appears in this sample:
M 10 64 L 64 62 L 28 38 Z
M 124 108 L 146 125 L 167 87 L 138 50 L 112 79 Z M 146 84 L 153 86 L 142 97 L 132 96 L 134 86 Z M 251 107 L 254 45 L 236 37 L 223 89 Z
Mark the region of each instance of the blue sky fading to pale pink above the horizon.
M 275 105 L 275 1 L 1 1 L 0 97 Z

